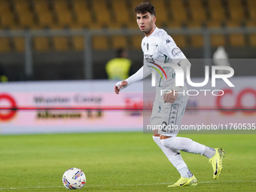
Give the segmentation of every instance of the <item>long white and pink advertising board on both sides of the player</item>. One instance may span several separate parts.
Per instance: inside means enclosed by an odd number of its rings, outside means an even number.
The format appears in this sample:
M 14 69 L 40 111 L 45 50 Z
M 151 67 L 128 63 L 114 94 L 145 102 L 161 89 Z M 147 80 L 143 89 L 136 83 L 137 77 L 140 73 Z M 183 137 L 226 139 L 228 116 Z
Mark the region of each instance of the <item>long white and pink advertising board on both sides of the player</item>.
M 203 78 L 192 81 L 203 82 Z M 235 87 L 229 87 L 222 80 L 216 82 L 216 87 L 211 84 L 188 86 L 190 98 L 182 124 L 213 124 L 226 128 L 230 123 L 256 123 L 254 82 L 256 78 L 248 77 L 232 78 Z M 142 81 L 121 90 L 119 95 L 114 93 L 115 83 L 44 81 L 0 84 L 0 133 L 142 131 L 142 110 L 128 109 L 142 109 L 143 104 L 145 108 L 151 108 L 154 100 L 143 101 Z M 150 114 L 148 112 L 144 117 L 149 120 Z

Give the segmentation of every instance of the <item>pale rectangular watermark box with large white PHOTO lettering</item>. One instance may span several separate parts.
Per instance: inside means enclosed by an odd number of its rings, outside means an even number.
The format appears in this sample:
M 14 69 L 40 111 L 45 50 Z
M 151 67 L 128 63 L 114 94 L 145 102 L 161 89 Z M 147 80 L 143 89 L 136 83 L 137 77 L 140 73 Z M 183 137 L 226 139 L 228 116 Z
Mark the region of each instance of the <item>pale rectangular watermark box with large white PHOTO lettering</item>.
M 151 77 L 143 81 L 143 105 L 148 109 L 143 113 L 143 132 L 256 133 L 255 76 L 245 74 L 256 60 L 229 59 L 229 66 L 217 66 L 213 59 L 188 60 L 191 65 L 182 65 L 180 59 L 145 60 L 145 66 L 152 67 Z M 244 67 L 238 70 L 239 63 Z M 175 101 L 165 102 L 168 97 Z

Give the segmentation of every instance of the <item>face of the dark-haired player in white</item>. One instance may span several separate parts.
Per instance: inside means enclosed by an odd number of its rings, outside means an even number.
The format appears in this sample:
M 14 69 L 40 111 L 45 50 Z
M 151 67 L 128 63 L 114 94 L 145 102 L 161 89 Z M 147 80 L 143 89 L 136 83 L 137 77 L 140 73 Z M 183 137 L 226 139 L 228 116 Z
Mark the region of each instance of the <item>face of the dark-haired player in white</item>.
M 146 36 L 151 35 L 151 33 L 154 31 L 156 17 L 151 15 L 149 12 L 145 14 L 137 14 L 136 17 L 139 29 L 141 29 Z

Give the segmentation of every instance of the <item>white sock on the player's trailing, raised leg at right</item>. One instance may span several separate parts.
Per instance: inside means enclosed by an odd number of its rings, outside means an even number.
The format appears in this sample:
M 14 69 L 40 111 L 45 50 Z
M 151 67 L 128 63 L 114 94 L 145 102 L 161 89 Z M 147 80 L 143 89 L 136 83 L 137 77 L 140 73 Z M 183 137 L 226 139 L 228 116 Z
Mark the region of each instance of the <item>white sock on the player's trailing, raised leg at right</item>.
M 198 142 L 194 142 L 192 139 L 184 138 L 184 137 L 170 137 L 168 139 L 160 140 L 166 148 L 176 149 L 180 151 L 185 151 L 187 153 L 192 154 L 201 154 L 203 155 L 206 146 L 201 145 Z

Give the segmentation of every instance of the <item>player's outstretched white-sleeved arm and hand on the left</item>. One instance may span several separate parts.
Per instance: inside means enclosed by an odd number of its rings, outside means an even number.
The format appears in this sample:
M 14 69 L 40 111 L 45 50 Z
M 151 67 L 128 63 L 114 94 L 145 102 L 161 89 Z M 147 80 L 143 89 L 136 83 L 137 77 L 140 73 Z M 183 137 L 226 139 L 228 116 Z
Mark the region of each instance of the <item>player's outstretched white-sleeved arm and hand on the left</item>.
M 130 76 L 130 78 L 127 78 L 124 81 L 117 82 L 117 84 L 115 84 L 114 86 L 114 92 L 116 94 L 119 94 L 120 90 L 123 90 L 124 88 L 135 83 L 136 81 L 140 81 L 143 78 L 148 77 L 148 75 L 150 74 L 151 74 L 151 70 L 147 66 L 142 66 L 142 68 L 139 69 L 138 72 Z

